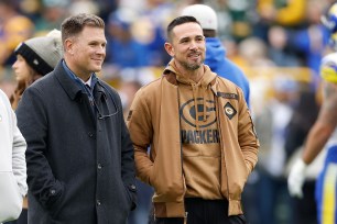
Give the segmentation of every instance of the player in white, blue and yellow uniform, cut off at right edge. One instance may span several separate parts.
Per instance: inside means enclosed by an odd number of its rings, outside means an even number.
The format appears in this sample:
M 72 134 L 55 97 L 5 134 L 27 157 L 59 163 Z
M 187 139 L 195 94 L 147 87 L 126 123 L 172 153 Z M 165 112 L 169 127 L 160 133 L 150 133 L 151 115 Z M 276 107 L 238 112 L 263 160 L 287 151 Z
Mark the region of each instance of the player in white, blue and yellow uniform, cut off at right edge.
M 330 44 L 337 51 L 337 3 L 323 20 L 330 31 Z M 323 103 L 311 128 L 301 158 L 293 165 L 287 184 L 291 195 L 303 197 L 303 183 L 308 165 L 326 148 L 324 168 L 316 180 L 317 219 L 319 224 L 337 223 L 337 53 L 326 55 L 320 63 Z M 305 197 L 305 195 L 304 195 Z

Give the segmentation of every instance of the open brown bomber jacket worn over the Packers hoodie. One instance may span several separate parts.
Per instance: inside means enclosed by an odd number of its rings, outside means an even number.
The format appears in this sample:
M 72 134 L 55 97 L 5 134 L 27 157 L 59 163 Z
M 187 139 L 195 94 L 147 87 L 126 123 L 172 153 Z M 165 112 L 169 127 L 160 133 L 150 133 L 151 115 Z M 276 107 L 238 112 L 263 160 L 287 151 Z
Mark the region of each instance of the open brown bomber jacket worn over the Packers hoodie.
M 209 88 L 215 94 L 220 133 L 221 193 L 229 201 L 228 215 L 242 214 L 241 193 L 258 161 L 259 141 L 242 90 L 208 66 L 204 69 L 208 77 L 214 76 Z M 167 66 L 161 78 L 141 88 L 127 119 L 138 177 L 155 190 L 157 217 L 185 216 L 176 76 L 175 69 Z

